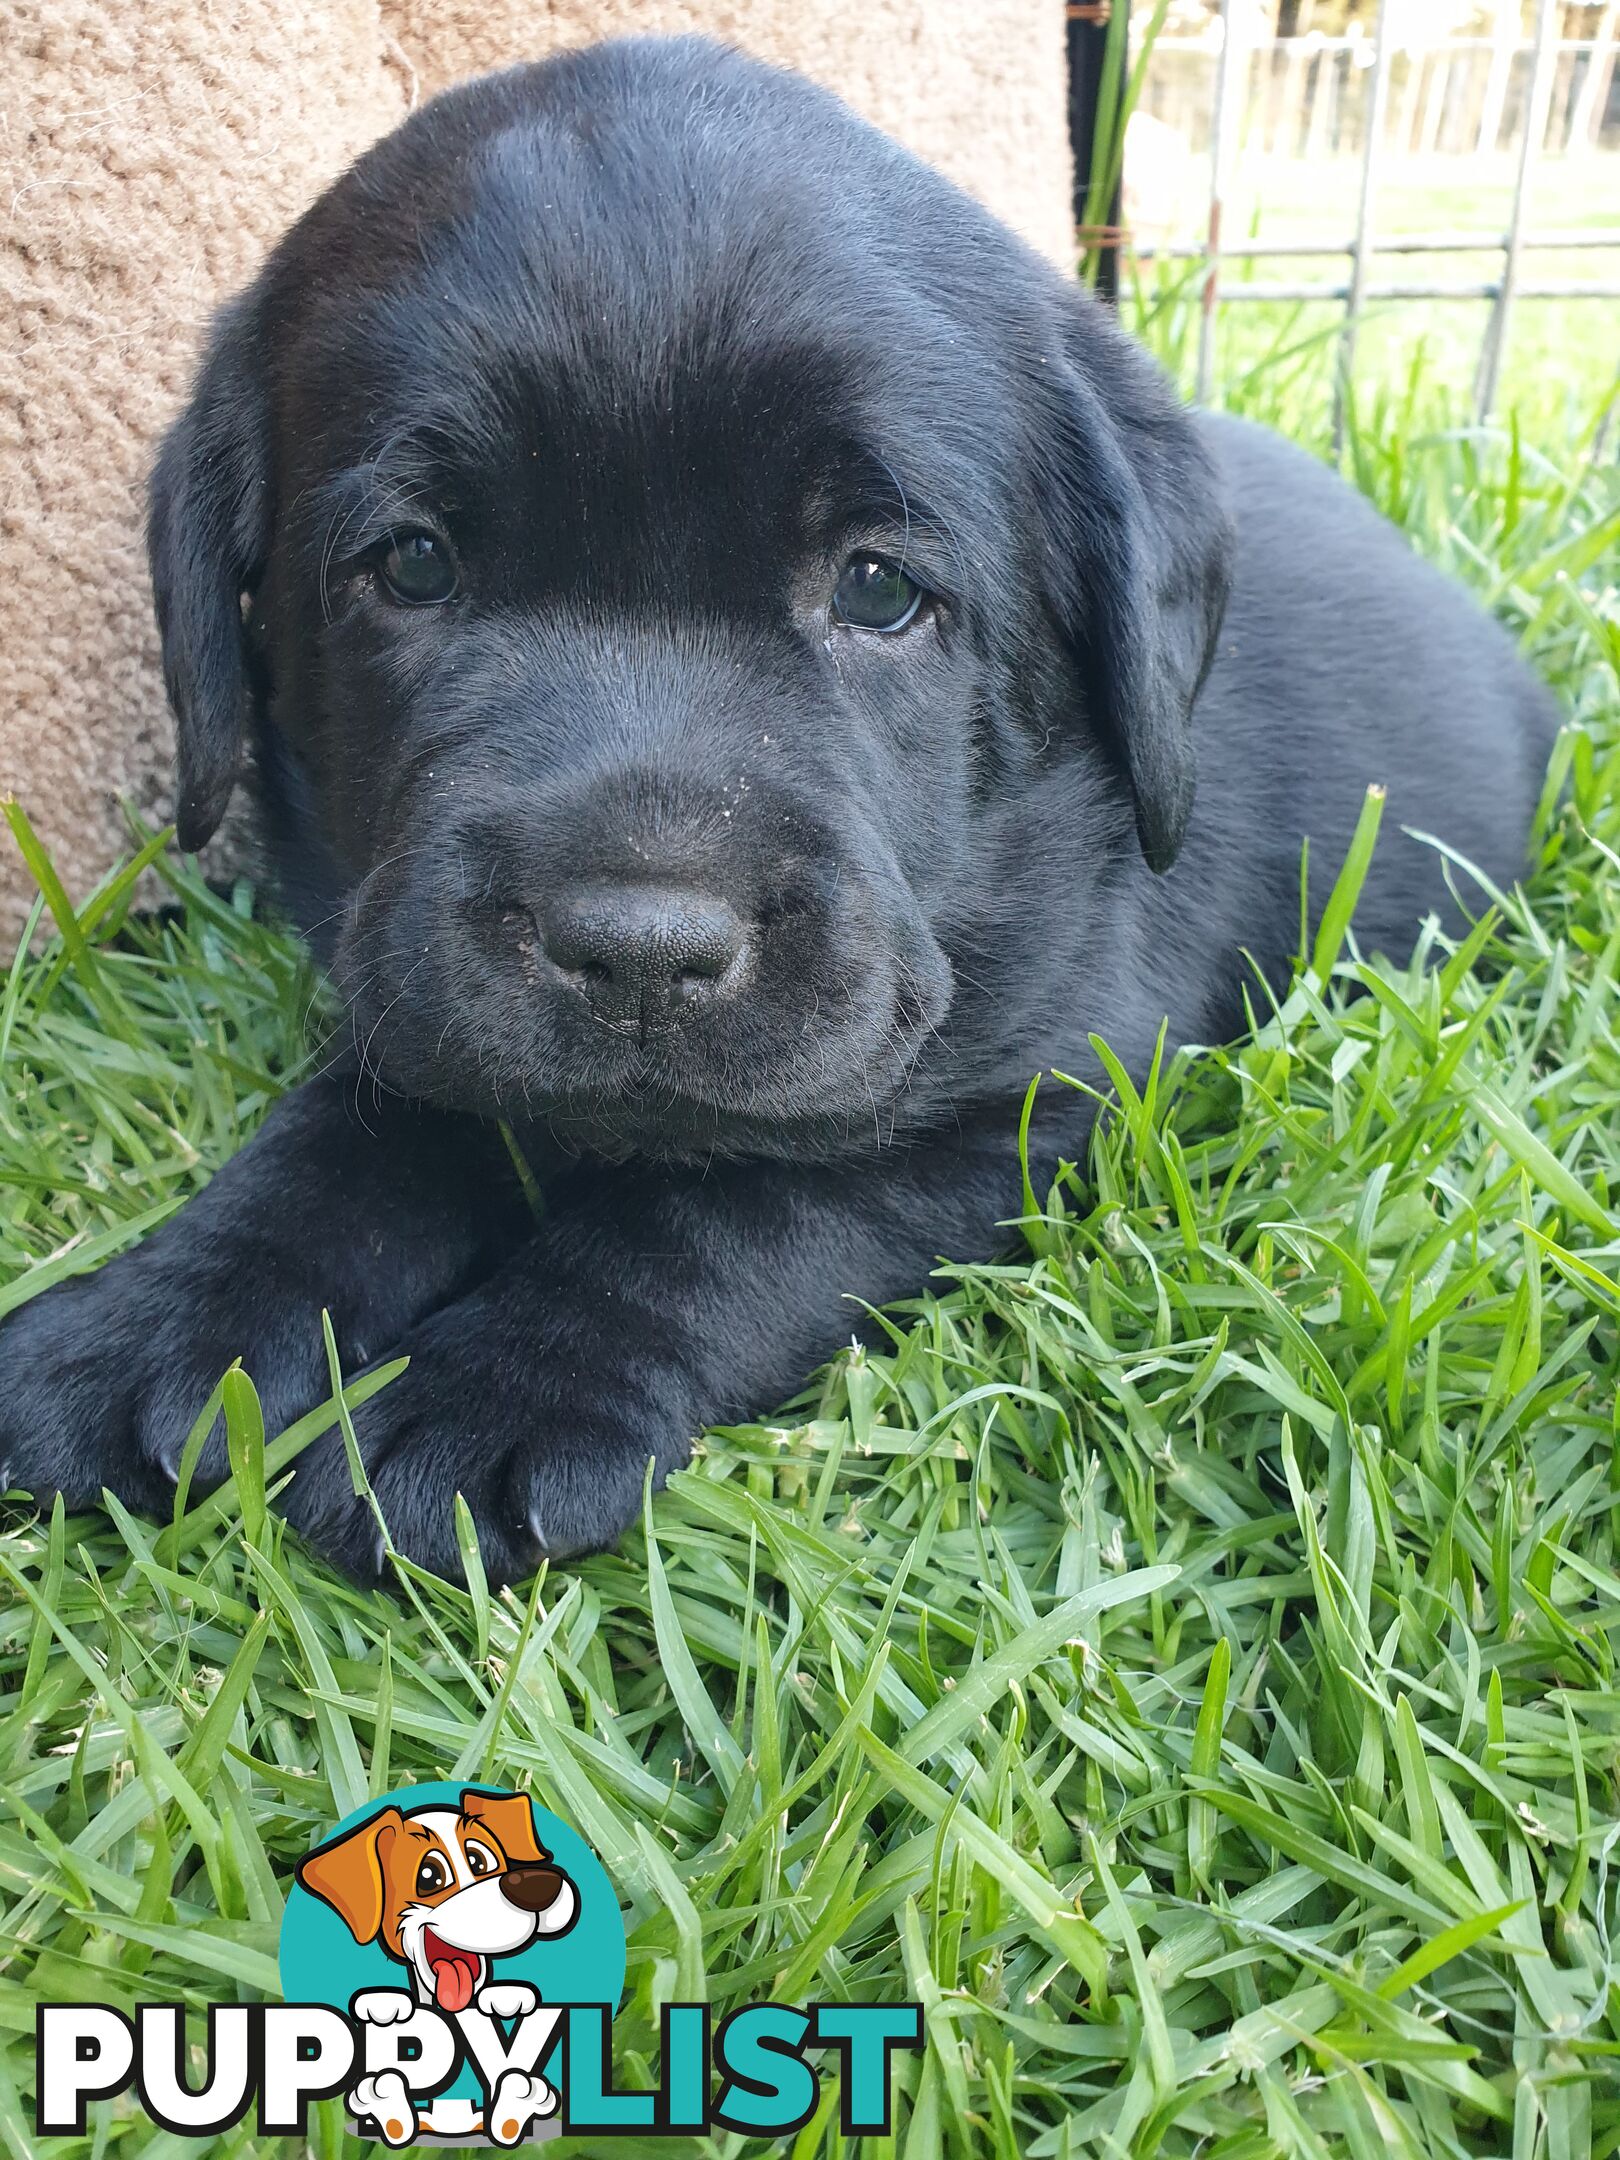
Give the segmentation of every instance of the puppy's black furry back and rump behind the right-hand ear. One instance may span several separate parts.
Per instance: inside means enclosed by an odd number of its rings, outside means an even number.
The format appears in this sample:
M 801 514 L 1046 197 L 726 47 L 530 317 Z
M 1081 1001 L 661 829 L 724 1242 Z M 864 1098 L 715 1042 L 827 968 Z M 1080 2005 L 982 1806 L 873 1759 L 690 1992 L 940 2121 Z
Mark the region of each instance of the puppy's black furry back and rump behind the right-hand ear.
M 1402 827 L 1512 886 L 1555 704 L 1512 637 L 1337 473 L 1248 421 L 1199 423 L 1227 482 L 1236 566 L 1194 708 L 1192 829 L 1164 883 L 1207 894 L 1216 935 L 1287 922 L 1309 834 L 1320 909 L 1378 782 L 1389 801 L 1356 935 L 1404 955 L 1426 914 L 1454 920 L 1456 907 L 1445 858 Z M 1467 894 L 1467 877 L 1458 886 Z M 1285 970 L 1285 950 L 1257 957 Z

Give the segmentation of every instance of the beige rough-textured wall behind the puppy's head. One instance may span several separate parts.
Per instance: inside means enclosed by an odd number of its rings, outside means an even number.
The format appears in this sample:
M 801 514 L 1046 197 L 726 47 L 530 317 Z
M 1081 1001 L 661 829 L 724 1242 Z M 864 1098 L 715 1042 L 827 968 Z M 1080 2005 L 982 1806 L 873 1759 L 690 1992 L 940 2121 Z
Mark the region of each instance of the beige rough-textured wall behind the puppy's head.
M 0 0 L 0 797 L 76 899 L 121 795 L 168 814 L 143 488 L 212 307 L 417 97 L 626 30 L 821 78 L 1067 253 L 1054 0 Z M 0 827 L 0 933 L 30 899 Z

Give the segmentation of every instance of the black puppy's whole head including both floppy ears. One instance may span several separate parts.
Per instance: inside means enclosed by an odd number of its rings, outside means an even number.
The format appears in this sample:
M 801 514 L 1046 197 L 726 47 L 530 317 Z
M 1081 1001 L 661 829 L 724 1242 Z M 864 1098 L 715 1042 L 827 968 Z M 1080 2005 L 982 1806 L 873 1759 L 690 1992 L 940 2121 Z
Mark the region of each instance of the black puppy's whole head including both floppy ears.
M 222 315 L 151 557 L 181 840 L 248 739 L 382 1078 L 687 1156 L 1022 1078 L 1052 877 L 1177 853 L 1225 592 L 1102 311 L 696 41 L 367 153 Z

